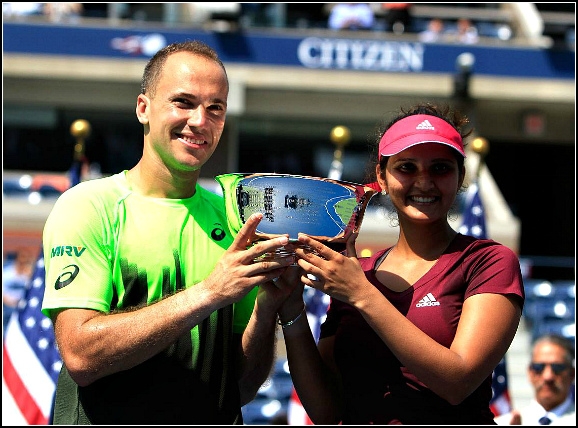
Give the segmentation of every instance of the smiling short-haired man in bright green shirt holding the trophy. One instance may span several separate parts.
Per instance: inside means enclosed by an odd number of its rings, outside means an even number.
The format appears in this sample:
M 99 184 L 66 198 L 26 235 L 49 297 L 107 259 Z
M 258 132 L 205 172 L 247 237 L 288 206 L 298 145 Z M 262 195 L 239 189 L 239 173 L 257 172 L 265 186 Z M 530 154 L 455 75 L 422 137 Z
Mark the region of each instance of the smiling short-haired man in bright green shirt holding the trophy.
M 260 214 L 234 237 L 222 198 L 197 183 L 228 91 L 209 46 L 163 48 L 137 97 L 140 161 L 55 204 L 42 308 L 64 363 L 55 424 L 242 424 L 269 375 L 285 298 L 272 280 L 293 260 L 254 260 L 287 238 L 254 243 Z

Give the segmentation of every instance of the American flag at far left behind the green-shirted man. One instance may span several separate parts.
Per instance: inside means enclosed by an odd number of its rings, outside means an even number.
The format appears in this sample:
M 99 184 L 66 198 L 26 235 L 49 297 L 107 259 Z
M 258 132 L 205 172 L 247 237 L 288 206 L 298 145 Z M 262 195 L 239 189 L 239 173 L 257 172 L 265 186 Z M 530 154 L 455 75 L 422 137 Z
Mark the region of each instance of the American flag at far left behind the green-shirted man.
M 70 187 L 81 180 L 86 159 L 75 159 Z M 13 312 L 2 343 L 2 425 L 49 425 L 62 359 L 50 318 L 42 312 L 44 256 L 36 261 L 24 297 Z

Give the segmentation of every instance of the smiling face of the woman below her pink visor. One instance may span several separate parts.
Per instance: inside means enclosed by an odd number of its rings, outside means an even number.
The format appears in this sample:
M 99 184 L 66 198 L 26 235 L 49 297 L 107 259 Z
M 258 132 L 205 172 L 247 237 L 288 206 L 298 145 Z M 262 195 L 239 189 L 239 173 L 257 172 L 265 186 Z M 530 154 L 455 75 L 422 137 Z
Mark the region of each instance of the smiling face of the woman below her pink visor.
M 464 173 L 454 149 L 439 143 L 409 147 L 391 156 L 380 184 L 390 195 L 400 221 L 447 221 Z

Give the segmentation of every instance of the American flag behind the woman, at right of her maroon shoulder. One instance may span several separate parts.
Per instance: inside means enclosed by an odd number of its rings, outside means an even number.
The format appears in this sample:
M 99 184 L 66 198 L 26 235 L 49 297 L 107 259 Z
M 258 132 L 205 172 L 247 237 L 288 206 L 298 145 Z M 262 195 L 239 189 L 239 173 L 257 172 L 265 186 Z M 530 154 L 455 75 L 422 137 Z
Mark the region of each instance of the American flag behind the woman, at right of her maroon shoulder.
M 462 218 L 462 225 L 459 229 L 462 235 L 471 235 L 476 238 L 487 237 L 484 206 L 477 183 L 472 183 L 468 187 Z M 512 400 L 508 390 L 506 357 L 502 358 L 492 374 L 490 410 L 495 416 L 512 410 Z

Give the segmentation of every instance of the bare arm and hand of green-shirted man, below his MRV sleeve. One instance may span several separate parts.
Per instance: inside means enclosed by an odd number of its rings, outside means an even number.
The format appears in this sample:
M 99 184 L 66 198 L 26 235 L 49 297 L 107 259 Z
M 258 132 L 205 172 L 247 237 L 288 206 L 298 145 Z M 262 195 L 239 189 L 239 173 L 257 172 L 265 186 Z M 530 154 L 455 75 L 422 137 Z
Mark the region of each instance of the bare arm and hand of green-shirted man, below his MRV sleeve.
M 59 311 L 53 320 L 56 340 L 75 382 L 86 386 L 103 376 L 141 364 L 213 311 L 239 301 L 257 284 L 279 276 L 290 260 L 262 263 L 253 263 L 253 260 L 286 245 L 287 238 L 261 241 L 247 248 L 261 218 L 255 215 L 249 218 L 215 269 L 194 287 L 152 305 L 122 312 L 103 314 L 76 308 Z M 271 346 L 274 344 L 275 311 L 276 306 L 273 306 L 265 312 L 271 319 L 272 331 L 258 331 L 258 337 L 263 334 Z M 271 338 L 267 339 L 267 335 Z

